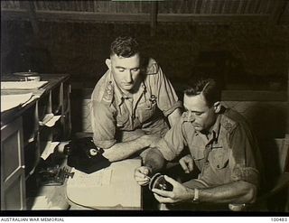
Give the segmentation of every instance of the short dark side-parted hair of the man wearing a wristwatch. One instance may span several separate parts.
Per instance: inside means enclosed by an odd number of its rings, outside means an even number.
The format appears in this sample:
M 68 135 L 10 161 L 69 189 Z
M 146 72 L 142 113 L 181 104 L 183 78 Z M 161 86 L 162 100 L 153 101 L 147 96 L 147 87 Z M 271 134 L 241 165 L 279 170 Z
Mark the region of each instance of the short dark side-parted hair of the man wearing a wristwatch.
M 211 107 L 220 100 L 221 90 L 215 79 L 197 79 L 193 85 L 184 90 L 184 94 L 187 96 L 202 94 L 208 107 Z

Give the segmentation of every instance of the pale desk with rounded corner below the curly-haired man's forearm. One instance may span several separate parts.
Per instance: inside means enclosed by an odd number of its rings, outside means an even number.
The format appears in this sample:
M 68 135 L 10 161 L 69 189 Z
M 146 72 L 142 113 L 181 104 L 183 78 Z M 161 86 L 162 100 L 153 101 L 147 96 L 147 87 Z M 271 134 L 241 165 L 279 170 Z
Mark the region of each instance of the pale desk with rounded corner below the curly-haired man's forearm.
M 66 190 L 71 209 L 142 209 L 142 189 L 134 179 L 140 165 L 141 160 L 128 159 L 90 174 L 72 169 Z

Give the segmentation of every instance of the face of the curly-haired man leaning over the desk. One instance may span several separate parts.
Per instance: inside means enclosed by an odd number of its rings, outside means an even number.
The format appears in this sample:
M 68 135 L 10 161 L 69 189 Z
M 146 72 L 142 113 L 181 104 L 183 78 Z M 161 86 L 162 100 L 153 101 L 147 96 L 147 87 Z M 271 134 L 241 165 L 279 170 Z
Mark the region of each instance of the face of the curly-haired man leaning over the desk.
M 138 83 L 140 77 L 140 57 L 135 54 L 132 57 L 118 57 L 116 54 L 110 57 L 111 71 L 117 82 L 117 86 L 124 92 L 131 91 Z

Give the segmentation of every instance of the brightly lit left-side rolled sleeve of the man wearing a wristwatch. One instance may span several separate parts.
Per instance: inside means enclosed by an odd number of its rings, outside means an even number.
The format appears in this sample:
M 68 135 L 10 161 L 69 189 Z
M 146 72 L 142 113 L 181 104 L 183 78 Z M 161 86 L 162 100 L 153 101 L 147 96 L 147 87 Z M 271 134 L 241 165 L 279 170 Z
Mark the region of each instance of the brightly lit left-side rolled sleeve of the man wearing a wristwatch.
M 177 157 L 185 145 L 187 145 L 183 135 L 183 123 L 178 122 L 164 135 L 158 144 L 158 149 L 163 154 L 164 159 L 172 161 Z

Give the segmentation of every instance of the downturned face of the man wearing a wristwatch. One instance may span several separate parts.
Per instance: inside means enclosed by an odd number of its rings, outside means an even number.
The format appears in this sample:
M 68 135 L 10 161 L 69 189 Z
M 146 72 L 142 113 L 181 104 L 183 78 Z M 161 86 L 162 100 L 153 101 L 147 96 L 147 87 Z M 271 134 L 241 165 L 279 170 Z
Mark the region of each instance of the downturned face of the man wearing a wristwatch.
M 193 117 L 192 125 L 197 131 L 210 131 L 210 127 L 216 121 L 216 113 L 214 107 L 208 107 L 206 99 L 202 94 L 197 96 L 183 97 L 183 107 L 186 109 L 188 116 Z

